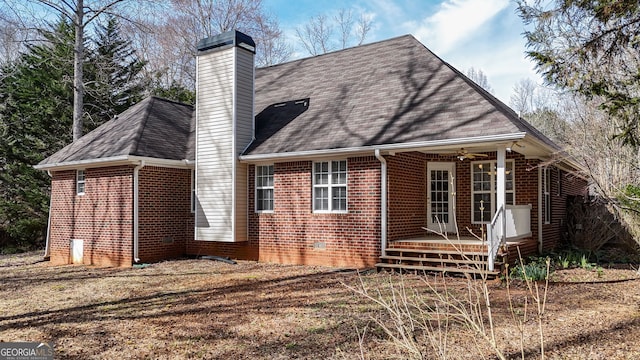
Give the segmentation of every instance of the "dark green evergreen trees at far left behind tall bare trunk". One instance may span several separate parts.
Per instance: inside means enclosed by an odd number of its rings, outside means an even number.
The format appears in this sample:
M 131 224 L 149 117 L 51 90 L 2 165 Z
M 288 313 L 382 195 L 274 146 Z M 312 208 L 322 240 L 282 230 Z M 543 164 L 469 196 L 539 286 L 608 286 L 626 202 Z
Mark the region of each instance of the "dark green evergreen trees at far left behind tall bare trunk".
M 73 139 L 73 25 L 60 20 L 44 41 L 0 69 L 0 227 L 22 245 L 44 239 L 51 179 L 33 165 Z M 91 40 L 88 40 L 91 41 Z M 110 19 L 85 47 L 85 129 L 139 101 L 144 63 Z

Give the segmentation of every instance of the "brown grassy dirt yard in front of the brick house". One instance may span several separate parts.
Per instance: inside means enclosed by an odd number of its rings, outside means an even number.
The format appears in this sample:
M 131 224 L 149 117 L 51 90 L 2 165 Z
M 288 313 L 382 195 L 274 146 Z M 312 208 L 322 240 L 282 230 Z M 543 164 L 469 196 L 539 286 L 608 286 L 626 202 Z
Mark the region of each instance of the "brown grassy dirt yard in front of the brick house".
M 359 278 L 322 267 L 176 260 L 113 269 L 37 260 L 33 253 L 0 258 L 0 341 L 53 342 L 56 359 L 403 358 L 372 321 L 388 314 L 345 284 L 362 281 L 384 294 L 384 284 L 402 280 L 428 292 L 413 275 Z M 630 270 L 605 271 L 598 279 L 616 281 L 570 283 L 579 279 L 571 274 L 550 285 L 542 317 L 547 358 L 640 358 L 640 280 L 628 280 Z M 464 294 L 474 281 L 449 278 L 446 286 Z M 489 289 L 498 347 L 508 358 L 521 350 L 540 358 L 526 287 L 507 293 L 495 280 Z M 450 358 L 493 358 L 463 326 L 451 324 L 446 336 Z M 431 349 L 424 344 L 426 358 L 435 357 Z

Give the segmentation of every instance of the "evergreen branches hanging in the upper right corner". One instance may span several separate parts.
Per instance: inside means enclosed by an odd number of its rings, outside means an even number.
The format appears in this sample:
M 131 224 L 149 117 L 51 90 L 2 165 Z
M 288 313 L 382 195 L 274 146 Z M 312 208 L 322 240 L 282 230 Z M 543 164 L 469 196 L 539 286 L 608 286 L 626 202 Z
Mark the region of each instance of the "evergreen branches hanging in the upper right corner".
M 546 81 L 597 99 L 640 148 L 640 3 L 518 0 L 528 56 Z

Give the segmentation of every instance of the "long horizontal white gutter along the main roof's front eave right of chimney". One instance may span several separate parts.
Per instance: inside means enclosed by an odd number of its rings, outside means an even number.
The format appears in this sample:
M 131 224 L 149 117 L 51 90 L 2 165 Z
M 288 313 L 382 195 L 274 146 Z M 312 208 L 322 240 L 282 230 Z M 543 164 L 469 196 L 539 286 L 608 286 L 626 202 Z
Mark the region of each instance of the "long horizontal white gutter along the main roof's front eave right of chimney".
M 291 158 L 318 158 L 328 156 L 341 156 L 341 155 L 355 155 L 358 153 L 368 153 L 373 151 L 418 151 L 420 149 L 438 150 L 451 148 L 452 146 L 481 143 L 481 142 L 509 142 L 524 139 L 526 133 L 519 132 L 513 134 L 504 135 L 490 135 L 490 136 L 476 136 L 468 138 L 457 139 L 442 139 L 431 141 L 418 141 L 412 143 L 398 143 L 398 144 L 386 144 L 386 145 L 371 145 L 371 146 L 357 146 L 349 148 L 339 149 L 324 149 L 324 150 L 305 150 L 294 151 L 284 153 L 272 153 L 272 154 L 256 154 L 256 155 L 241 155 L 240 161 L 266 161 L 266 160 L 278 160 L 278 159 L 291 159 Z

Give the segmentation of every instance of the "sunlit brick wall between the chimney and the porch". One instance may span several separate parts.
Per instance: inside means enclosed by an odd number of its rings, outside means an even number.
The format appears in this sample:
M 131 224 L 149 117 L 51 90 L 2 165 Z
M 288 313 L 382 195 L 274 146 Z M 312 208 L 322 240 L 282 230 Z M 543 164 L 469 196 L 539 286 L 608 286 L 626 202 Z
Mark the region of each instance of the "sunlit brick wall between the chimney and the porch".
M 274 211 L 255 213 L 254 171 L 249 168 L 249 240 L 190 241 L 190 254 L 223 255 L 285 264 L 367 267 L 380 255 L 380 162 L 349 158 L 348 213 L 312 211 L 312 162 L 274 164 Z

